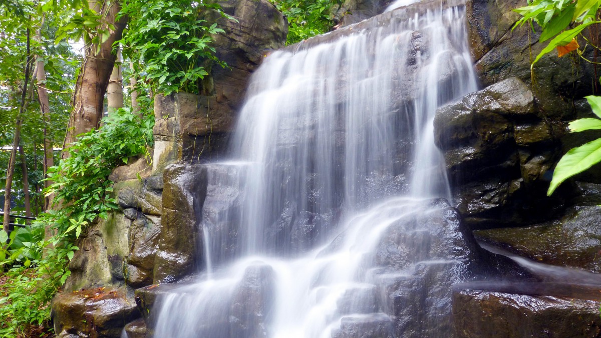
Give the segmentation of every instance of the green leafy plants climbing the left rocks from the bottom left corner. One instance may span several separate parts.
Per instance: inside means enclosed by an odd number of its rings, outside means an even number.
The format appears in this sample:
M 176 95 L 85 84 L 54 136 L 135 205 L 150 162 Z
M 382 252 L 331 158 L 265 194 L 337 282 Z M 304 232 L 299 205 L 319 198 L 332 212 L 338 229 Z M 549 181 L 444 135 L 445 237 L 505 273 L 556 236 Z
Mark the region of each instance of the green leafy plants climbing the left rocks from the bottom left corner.
M 78 250 L 75 240 L 98 217 L 106 218 L 118 207 L 111 198 L 109 174 L 132 156 L 148 155 L 153 125 L 152 114 L 139 117 L 119 109 L 99 130 L 79 135 L 69 148 L 71 156 L 50 170 L 54 183 L 46 194 L 54 194 L 62 207 L 40 215 L 32 229 L 50 227 L 55 236 L 44 241 L 39 230 L 31 235 L 13 232 L 11 245 L 5 247 L 11 260 L 4 265 L 13 267 L 5 272 L 7 284 L 0 287 L 0 336 L 13 337 L 29 325 L 49 322 L 50 300 L 69 277 L 67 264 Z M 16 249 L 19 254 L 13 256 L 10 250 Z

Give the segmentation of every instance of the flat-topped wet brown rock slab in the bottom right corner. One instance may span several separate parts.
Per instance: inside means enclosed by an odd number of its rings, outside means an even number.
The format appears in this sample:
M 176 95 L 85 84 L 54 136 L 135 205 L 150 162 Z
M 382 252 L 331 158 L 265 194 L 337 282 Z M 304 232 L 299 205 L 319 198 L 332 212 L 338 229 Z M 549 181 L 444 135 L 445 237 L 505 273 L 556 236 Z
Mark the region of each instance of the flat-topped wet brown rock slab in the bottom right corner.
M 537 284 L 478 289 L 458 285 L 453 293 L 457 337 L 599 337 L 598 289 L 549 290 Z M 496 289 L 496 290 L 495 290 Z

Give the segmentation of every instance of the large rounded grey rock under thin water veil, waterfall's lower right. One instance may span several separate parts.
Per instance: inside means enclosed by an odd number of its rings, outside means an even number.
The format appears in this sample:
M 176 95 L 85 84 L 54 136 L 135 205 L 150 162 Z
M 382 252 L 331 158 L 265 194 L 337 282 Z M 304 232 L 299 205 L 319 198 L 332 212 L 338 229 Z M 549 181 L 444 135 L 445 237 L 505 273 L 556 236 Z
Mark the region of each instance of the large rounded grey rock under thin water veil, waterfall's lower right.
M 477 273 L 475 244 L 462 236 L 461 217 L 445 200 L 432 200 L 392 224 L 376 249 L 375 275 L 398 337 L 439 337 L 451 328 L 451 286 Z

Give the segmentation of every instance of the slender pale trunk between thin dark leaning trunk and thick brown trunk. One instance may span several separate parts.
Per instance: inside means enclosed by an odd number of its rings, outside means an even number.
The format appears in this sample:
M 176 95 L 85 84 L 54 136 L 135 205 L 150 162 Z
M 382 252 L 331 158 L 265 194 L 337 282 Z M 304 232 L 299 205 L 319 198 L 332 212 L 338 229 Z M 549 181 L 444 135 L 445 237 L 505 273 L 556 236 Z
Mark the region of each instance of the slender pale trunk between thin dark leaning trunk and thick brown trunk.
M 36 39 L 38 42 L 41 42 L 41 28 L 44 25 L 44 16 L 41 17 L 40 29 L 38 29 L 36 34 Z M 53 144 L 52 140 L 50 140 L 48 136 L 48 124 L 50 123 L 50 102 L 48 100 L 48 91 L 46 90 L 46 71 L 44 70 L 44 60 L 40 58 L 40 56 L 35 56 L 35 67 L 37 69 L 36 78 L 38 83 L 42 83 L 43 85 L 37 86 L 37 94 L 38 100 L 40 101 L 40 111 L 41 118 L 44 124 L 44 178 L 47 178 L 48 168 L 54 165 L 54 153 L 53 153 Z M 51 185 L 52 182 L 44 181 L 44 188 L 47 188 Z M 50 197 L 44 196 L 44 211 L 48 210 L 50 206 Z

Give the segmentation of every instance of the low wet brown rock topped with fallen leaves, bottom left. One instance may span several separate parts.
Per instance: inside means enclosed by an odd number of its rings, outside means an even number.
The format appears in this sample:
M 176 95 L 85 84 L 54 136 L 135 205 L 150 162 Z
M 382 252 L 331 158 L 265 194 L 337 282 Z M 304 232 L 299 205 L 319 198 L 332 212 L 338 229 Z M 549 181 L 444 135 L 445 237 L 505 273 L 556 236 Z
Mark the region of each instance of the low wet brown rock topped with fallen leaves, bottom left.
M 57 337 L 117 338 L 138 316 L 133 291 L 127 287 L 61 292 L 52 300 Z

